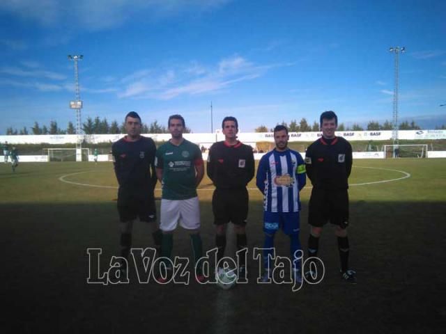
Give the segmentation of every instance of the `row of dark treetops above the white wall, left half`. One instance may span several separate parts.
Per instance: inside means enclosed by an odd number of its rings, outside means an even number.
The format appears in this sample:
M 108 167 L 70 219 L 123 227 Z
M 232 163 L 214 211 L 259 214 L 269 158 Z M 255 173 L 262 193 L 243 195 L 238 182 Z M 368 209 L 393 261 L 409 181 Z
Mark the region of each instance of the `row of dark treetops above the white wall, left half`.
M 94 120 L 92 118 L 87 118 L 85 122 L 82 123 L 82 131 L 85 134 L 125 134 L 125 123 L 122 122 L 118 124 L 116 120 L 109 123 L 107 118 L 102 118 L 102 120 L 96 117 Z M 185 133 L 190 133 L 191 130 L 186 127 Z M 167 127 L 158 124 L 155 120 L 149 125 L 143 123 L 142 125 L 143 134 L 167 134 Z M 49 126 L 40 126 L 38 122 L 34 122 L 33 127 L 30 131 L 23 127 L 20 130 L 13 129 L 13 127 L 8 127 L 6 129 L 7 135 L 14 134 L 76 134 L 76 128 L 72 122 L 68 122 L 68 127 L 66 129 L 61 129 L 55 120 L 49 122 Z

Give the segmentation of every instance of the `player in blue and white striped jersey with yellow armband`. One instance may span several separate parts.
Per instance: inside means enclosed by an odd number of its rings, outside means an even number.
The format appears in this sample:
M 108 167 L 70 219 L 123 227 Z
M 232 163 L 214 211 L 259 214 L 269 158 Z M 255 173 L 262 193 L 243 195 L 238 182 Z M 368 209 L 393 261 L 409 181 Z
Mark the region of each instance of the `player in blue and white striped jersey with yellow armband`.
M 305 186 L 305 162 L 299 152 L 288 148 L 289 134 L 284 125 L 274 129 L 275 149 L 263 155 L 257 169 L 256 185 L 263 193 L 263 262 L 264 282 L 270 282 L 272 274 L 274 237 L 279 228 L 290 237 L 290 253 L 293 262 L 292 277 L 302 280 L 298 250 L 300 198 L 299 191 Z

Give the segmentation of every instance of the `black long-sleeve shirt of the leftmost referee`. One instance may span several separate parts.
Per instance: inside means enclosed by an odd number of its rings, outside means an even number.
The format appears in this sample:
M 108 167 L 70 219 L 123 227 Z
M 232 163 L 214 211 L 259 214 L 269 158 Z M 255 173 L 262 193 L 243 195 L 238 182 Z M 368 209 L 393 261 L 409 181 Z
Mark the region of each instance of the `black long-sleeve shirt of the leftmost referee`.
M 121 138 L 112 145 L 114 171 L 120 189 L 144 196 L 155 189 L 156 146 L 152 138 L 141 136 L 138 141 Z

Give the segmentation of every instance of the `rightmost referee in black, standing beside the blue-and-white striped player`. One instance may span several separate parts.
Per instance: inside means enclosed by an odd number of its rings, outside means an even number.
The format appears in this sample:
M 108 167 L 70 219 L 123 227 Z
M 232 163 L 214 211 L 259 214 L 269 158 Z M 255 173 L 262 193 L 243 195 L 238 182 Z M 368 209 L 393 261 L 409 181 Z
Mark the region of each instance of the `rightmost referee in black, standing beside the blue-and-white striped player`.
M 353 163 L 352 149 L 346 139 L 335 136 L 337 116 L 333 111 L 321 114 L 322 136 L 309 145 L 305 154 L 307 175 L 312 181 L 308 221 L 312 226 L 308 239 L 308 256 L 316 257 L 323 225 L 336 225 L 341 278 L 356 283 L 356 273 L 348 267 L 348 177 Z M 309 275 L 307 273 L 307 278 Z

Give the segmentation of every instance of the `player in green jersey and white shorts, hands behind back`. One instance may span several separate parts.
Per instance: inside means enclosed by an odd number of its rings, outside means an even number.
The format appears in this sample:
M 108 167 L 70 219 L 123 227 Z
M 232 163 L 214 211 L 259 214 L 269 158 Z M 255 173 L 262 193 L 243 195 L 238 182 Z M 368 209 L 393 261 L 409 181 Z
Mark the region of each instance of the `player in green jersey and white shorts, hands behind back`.
M 183 138 L 185 121 L 183 116 L 173 115 L 168 121 L 171 139 L 156 152 L 155 170 L 162 184 L 160 229 L 162 230 L 162 257 L 171 257 L 174 247 L 173 233 L 178 222 L 189 230 L 194 263 L 197 263 L 203 250 L 201 244 L 200 209 L 197 186 L 204 175 L 203 158 L 198 145 Z M 171 264 L 167 263 L 167 273 L 158 282 L 170 280 Z M 195 269 L 195 277 L 203 282 L 201 268 Z

